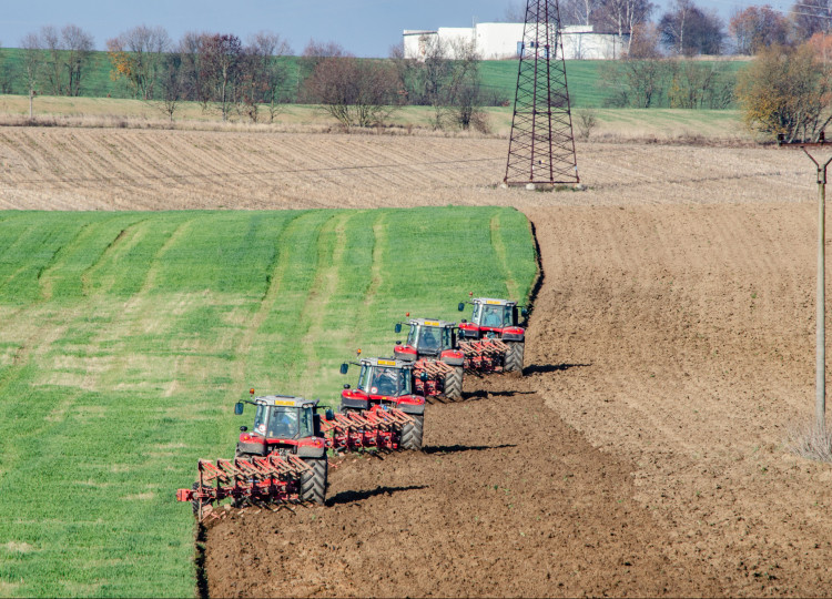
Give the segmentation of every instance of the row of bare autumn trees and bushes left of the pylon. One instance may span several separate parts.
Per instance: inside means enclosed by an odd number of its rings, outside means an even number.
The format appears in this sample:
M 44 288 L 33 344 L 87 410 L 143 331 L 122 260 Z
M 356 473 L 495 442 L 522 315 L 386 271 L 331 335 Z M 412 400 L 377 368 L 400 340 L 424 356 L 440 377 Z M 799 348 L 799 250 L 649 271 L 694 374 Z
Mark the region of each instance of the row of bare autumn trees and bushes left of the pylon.
M 126 95 L 159 108 L 170 120 L 182 102 L 197 102 L 252 122 L 274 121 L 288 102 L 319 104 L 346 126 L 382 123 L 406 104 L 430 105 L 437 129 L 487 129 L 483 106 L 508 98 L 486 93 L 473 43 L 436 42 L 425 61 L 357 59 L 334 42 L 315 40 L 296 61 L 277 33 L 262 31 L 243 42 L 233 33 L 187 32 L 174 41 L 161 27 L 139 26 L 106 40 L 110 78 Z M 0 92 L 11 83 L 29 95 L 30 118 L 38 94 L 82 94 L 92 70 L 92 35 L 70 24 L 44 27 L 21 40 L 18 72 L 2 67 Z M 453 59 L 450 57 L 454 57 Z

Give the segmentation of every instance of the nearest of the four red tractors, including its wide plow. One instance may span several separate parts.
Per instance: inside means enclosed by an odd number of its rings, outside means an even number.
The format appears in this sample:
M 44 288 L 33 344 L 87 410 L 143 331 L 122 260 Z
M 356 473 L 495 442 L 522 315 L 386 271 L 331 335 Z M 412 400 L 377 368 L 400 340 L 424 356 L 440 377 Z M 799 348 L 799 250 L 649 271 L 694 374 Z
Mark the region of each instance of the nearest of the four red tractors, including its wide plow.
M 322 432 L 317 400 L 291 395 L 254 397 L 254 429 L 240 427 L 234 460 L 201 459 L 199 480 L 179 489 L 176 499 L 191 501 L 200 519 L 214 504 L 231 498 L 245 502 L 312 501 L 322 505 L 326 495 L 327 438 Z M 243 403 L 234 406 L 243 414 Z M 327 420 L 333 416 L 327 410 Z

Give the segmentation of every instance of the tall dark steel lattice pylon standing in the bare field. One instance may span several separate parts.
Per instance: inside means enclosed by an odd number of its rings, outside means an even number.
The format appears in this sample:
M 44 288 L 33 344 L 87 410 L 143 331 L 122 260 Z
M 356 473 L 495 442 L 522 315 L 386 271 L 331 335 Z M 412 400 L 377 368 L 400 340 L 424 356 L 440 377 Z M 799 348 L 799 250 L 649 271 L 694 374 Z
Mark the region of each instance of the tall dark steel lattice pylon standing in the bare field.
M 504 183 L 580 183 L 557 0 L 527 0 Z

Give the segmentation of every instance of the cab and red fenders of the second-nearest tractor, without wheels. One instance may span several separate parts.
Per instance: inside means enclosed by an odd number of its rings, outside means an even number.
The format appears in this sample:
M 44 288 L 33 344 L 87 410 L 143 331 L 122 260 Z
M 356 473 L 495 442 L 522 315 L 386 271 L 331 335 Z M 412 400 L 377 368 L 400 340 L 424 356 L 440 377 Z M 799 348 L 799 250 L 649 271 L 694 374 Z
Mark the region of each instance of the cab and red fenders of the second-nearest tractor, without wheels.
M 344 385 L 342 409 L 365 410 L 381 403 L 407 414 L 424 412 L 425 398 L 413 392 L 413 363 L 393 358 L 361 358 L 354 364 L 361 366 L 358 385 L 355 389 Z M 348 368 L 348 364 L 342 364 L 341 374 L 346 374 Z

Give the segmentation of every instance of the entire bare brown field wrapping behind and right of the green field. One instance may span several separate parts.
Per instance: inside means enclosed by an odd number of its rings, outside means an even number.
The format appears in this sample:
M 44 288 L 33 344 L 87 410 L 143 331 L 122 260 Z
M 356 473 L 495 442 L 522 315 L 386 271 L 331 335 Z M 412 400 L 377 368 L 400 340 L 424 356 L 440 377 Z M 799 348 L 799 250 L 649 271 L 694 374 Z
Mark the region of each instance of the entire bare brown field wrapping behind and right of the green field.
M 832 467 L 784 448 L 813 410 L 811 164 L 578 151 L 590 190 L 547 194 L 493 186 L 500 140 L 4 129 L 0 203 L 507 203 L 535 224 L 526 376 L 429 406 L 422 454 L 339 464 L 327 507 L 212 526 L 211 596 L 832 595 Z

